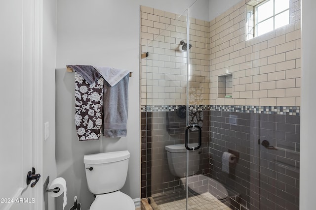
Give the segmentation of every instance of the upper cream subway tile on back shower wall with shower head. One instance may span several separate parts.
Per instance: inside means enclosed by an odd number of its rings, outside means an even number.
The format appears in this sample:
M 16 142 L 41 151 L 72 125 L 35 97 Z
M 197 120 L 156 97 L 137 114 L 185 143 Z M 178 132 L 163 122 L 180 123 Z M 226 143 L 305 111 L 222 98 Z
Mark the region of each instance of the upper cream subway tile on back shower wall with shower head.
M 186 104 L 186 16 L 141 6 L 142 105 Z M 189 103 L 209 104 L 209 22 L 190 18 Z

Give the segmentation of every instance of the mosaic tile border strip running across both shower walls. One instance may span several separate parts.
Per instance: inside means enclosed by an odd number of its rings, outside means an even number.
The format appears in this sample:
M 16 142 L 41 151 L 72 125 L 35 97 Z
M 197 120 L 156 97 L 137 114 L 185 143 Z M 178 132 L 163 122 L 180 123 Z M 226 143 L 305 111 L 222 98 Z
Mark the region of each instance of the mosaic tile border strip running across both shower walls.
M 183 105 L 142 105 L 141 112 L 176 111 Z M 190 105 L 192 111 L 224 111 L 256 114 L 294 115 L 300 116 L 299 106 L 234 106 L 234 105 Z

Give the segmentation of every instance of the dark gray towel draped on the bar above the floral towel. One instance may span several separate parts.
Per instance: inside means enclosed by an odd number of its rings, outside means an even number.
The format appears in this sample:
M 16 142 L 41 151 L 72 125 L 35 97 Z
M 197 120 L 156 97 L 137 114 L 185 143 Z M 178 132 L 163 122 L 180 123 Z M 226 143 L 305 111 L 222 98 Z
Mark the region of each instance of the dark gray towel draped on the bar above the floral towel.
M 92 65 L 67 65 L 78 72 L 90 85 L 96 82 L 101 74 Z

